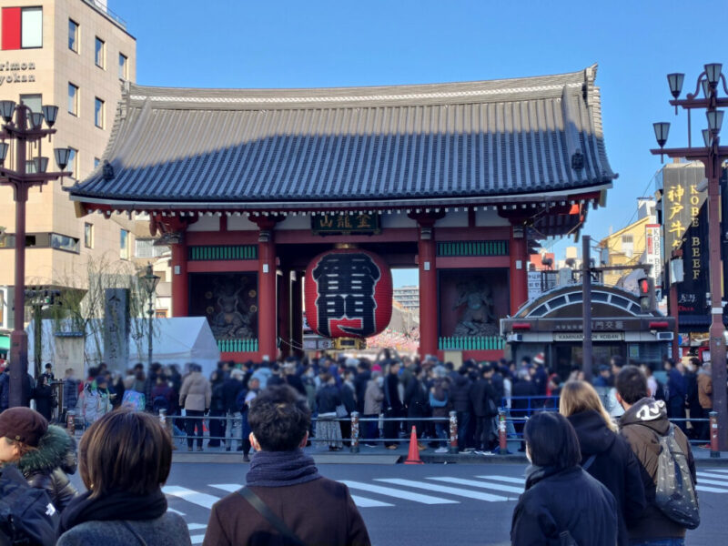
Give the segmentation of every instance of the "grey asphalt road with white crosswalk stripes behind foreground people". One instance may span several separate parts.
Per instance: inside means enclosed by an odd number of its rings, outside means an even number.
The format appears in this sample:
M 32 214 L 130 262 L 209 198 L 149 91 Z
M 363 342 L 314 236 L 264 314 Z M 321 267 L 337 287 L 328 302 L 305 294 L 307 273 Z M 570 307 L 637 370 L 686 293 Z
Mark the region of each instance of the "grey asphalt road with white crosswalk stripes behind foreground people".
M 510 544 L 511 514 L 524 467 L 488 465 L 319 465 L 346 481 L 375 546 Z M 183 514 L 193 544 L 202 542 L 212 504 L 245 483 L 245 464 L 176 463 L 169 508 Z M 687 544 L 725 543 L 728 469 L 700 470 L 702 524 Z

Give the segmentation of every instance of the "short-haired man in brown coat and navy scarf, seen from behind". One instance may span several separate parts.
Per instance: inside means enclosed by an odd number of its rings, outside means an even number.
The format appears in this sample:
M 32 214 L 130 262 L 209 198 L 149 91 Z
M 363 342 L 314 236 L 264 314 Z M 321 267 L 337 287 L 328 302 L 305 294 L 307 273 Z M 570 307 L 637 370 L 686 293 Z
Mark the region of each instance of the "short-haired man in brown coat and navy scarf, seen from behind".
M 246 487 L 213 505 L 203 546 L 369 546 L 348 488 L 322 477 L 302 450 L 311 420 L 306 400 L 288 386 L 274 387 L 249 413 L 257 452 Z

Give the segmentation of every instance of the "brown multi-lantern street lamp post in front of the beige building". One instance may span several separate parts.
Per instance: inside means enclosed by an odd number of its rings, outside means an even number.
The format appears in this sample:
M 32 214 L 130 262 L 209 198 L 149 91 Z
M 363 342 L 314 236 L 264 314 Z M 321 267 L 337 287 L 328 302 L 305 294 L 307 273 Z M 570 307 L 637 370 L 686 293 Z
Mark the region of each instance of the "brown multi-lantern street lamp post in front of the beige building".
M 0 100 L 0 116 L 4 124 L 0 132 L 0 186 L 13 188 L 15 201 L 15 325 L 10 335 L 10 407 L 20 406 L 23 399 L 23 377 L 28 368 L 28 338 L 25 334 L 25 202 L 31 187 L 43 187 L 51 180 L 71 176 L 63 172 L 68 165 L 70 150 L 56 148 L 54 150 L 58 172 L 46 172 L 48 158 L 41 156 L 41 140 L 56 133 L 53 128 L 58 115 L 58 106 L 42 106 L 41 112 L 34 112 L 21 103 L 16 105 L 12 100 Z M 14 119 L 15 117 L 15 119 Z M 43 128 L 43 123 L 47 128 Z M 15 163 L 5 163 L 10 144 L 15 145 Z M 37 157 L 28 160 L 28 145 L 35 144 Z M 12 162 L 12 160 L 11 160 Z

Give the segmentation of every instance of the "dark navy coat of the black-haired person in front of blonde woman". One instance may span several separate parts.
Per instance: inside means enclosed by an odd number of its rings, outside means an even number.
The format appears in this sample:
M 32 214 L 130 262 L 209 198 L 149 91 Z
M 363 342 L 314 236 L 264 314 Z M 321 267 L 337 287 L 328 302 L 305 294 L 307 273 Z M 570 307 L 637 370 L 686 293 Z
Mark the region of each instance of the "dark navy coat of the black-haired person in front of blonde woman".
M 555 473 L 541 469 L 526 480 L 526 490 L 513 511 L 511 543 L 557 546 L 563 531 L 569 531 L 580 546 L 617 543 L 614 497 L 579 466 Z

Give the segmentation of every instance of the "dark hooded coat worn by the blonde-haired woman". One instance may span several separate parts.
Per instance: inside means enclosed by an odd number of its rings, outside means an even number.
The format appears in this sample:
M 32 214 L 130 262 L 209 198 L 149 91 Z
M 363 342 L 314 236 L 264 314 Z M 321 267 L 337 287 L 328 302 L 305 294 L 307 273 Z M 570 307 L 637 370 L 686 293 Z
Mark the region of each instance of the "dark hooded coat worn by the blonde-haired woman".
M 599 480 L 617 502 L 619 546 L 627 546 L 627 526 L 639 521 L 646 501 L 640 463 L 630 444 L 610 430 L 597 411 L 582 411 L 569 416 L 581 446 L 581 465 L 596 456 L 587 472 Z

